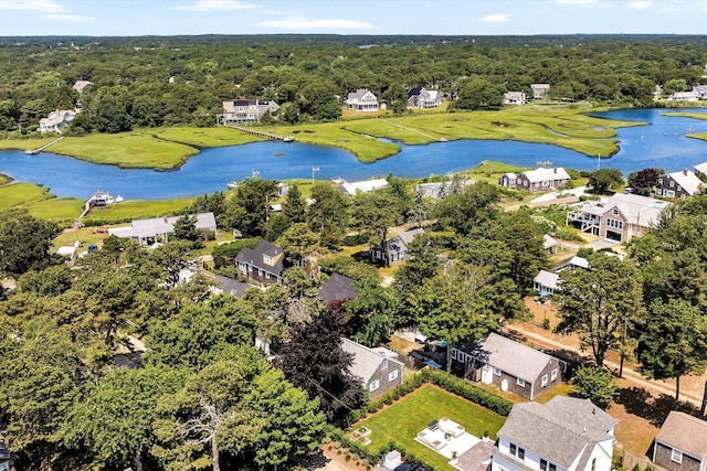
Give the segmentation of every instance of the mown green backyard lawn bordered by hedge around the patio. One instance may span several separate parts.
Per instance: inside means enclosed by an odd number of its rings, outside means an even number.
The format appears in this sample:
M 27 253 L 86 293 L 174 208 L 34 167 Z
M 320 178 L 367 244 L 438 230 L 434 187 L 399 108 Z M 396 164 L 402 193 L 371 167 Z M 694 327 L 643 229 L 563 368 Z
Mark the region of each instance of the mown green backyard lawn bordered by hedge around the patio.
M 436 386 L 425 385 L 354 428 L 365 426 L 371 430 L 369 447 L 374 451 L 382 450 L 392 441 L 434 465 L 434 469 L 453 470 L 446 458 L 414 440 L 428 424 L 442 417 L 463 425 L 476 437 L 487 433 L 494 440 L 506 421 L 505 417 L 476 404 Z

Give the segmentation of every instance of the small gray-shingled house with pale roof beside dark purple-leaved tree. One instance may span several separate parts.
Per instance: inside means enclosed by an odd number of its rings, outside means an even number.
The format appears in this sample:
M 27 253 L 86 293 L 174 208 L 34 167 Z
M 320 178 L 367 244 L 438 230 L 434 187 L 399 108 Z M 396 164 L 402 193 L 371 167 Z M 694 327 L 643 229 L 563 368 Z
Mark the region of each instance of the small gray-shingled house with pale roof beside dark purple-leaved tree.
M 382 346 L 369 349 L 348 339 L 341 339 L 341 349 L 354 355 L 349 371 L 360 378 L 371 399 L 402 384 L 405 366 L 395 352 Z

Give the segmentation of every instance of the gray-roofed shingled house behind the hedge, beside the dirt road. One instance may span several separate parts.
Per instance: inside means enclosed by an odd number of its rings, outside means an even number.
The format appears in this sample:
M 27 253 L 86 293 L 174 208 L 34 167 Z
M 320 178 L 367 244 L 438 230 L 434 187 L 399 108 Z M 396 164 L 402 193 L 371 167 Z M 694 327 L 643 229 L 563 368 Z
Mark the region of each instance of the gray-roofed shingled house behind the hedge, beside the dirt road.
M 495 384 L 530 400 L 562 382 L 559 360 L 496 333 L 483 342 L 453 346 L 452 365 L 463 367 L 472 381 Z

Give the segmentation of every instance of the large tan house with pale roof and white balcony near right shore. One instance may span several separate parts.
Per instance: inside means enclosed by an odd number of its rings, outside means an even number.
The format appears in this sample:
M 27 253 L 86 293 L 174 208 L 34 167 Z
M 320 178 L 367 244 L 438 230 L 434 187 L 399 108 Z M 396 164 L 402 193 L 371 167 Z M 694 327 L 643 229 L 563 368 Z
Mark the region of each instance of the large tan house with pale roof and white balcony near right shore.
M 567 215 L 582 232 L 615 242 L 627 242 L 644 234 L 657 222 L 668 203 L 637 194 L 616 193 L 599 202 L 591 201 Z

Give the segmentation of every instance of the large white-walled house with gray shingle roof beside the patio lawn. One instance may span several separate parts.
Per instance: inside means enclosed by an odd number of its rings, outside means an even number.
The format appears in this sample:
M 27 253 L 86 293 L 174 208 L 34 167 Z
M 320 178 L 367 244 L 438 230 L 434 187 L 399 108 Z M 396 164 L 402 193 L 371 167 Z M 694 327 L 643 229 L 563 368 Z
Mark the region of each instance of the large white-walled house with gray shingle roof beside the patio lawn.
M 492 471 L 610 471 L 616 421 L 589 399 L 516 404 L 498 431 Z

